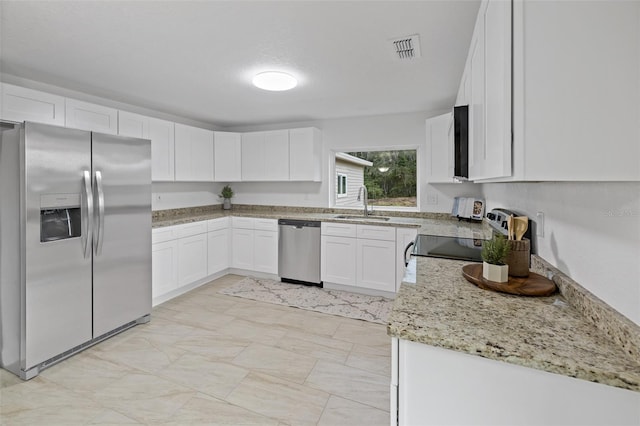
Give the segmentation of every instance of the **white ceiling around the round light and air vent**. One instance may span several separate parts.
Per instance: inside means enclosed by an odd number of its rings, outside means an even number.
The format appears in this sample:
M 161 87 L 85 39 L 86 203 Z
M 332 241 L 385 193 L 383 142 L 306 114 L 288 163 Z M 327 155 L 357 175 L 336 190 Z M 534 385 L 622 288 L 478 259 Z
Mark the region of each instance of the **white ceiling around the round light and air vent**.
M 479 0 L 0 4 L 1 72 L 224 127 L 450 108 Z M 298 87 L 253 87 L 268 69 Z

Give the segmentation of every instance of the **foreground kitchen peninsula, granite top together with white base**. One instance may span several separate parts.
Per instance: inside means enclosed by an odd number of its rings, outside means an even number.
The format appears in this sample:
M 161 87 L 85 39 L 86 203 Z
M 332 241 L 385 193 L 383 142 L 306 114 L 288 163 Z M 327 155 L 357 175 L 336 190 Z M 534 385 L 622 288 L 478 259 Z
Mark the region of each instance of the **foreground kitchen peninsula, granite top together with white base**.
M 637 325 L 537 256 L 559 294 L 487 291 L 462 277 L 465 262 L 416 260 L 388 325 L 398 424 L 640 422 Z

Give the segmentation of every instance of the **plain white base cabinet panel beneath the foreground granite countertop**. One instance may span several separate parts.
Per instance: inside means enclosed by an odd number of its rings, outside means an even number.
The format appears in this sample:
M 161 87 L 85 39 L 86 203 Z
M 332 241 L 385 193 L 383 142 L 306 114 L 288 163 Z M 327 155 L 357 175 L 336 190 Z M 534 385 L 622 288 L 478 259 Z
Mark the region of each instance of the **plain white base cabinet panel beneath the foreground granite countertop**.
M 392 339 L 391 369 L 392 425 L 631 425 L 640 418 L 638 392 L 403 339 Z

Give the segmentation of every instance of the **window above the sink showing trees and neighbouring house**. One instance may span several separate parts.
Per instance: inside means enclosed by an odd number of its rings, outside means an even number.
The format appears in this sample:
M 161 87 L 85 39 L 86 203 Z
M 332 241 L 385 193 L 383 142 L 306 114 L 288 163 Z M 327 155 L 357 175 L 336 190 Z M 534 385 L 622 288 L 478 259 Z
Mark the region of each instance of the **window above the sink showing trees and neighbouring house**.
M 360 207 L 359 188 L 367 187 L 369 205 L 391 209 L 416 209 L 417 150 L 337 152 L 336 206 Z M 346 188 L 347 176 L 352 192 Z

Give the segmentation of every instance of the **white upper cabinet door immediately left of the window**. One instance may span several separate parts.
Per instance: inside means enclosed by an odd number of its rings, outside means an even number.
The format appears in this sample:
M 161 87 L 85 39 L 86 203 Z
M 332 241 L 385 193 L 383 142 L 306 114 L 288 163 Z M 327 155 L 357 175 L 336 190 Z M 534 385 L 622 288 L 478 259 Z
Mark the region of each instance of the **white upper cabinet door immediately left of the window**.
M 289 130 L 289 180 L 322 181 L 322 133 L 315 127 Z

